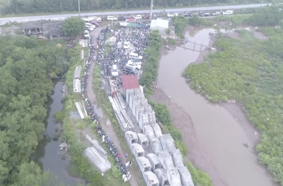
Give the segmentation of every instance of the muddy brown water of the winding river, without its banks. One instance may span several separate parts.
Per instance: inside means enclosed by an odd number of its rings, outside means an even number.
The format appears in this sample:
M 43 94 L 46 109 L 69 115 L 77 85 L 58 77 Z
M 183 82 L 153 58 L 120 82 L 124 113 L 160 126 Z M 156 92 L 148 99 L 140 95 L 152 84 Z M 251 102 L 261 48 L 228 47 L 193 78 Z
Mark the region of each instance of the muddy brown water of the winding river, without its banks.
M 189 41 L 208 45 L 209 32 L 215 31 L 213 28 L 194 28 L 186 37 Z M 192 49 L 194 44 L 186 43 L 185 47 Z M 202 50 L 204 49 L 203 47 Z M 195 50 L 200 50 L 200 46 L 196 45 Z M 158 71 L 159 87 L 190 115 L 199 142 L 213 158 L 216 171 L 229 186 L 278 185 L 273 182 L 271 174 L 258 163 L 252 147 L 243 145 L 252 142 L 234 117 L 224 107 L 195 93 L 181 76 L 185 67 L 195 62 L 199 54 L 198 51 L 181 47 L 164 54 Z M 190 147 L 188 150 L 190 151 Z

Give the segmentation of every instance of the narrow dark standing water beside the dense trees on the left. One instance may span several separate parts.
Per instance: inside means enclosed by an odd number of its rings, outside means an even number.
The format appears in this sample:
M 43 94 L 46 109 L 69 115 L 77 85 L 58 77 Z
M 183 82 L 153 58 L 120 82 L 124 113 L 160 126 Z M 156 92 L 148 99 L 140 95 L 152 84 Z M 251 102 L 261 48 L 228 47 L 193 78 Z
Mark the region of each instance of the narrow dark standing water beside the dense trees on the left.
M 56 129 L 53 116 L 57 111 L 61 111 L 63 108 L 63 104 L 61 103 L 63 94 L 59 90 L 59 88 L 61 88 L 60 79 L 55 79 L 53 83 L 55 84 L 55 89 L 48 98 L 47 117 L 44 121 L 46 133 L 44 134 L 44 139 L 38 143 L 33 160 L 37 162 L 44 171 L 50 171 L 57 176 L 60 183 L 70 186 L 78 185 L 78 179 L 70 177 L 67 174 L 68 161 L 62 160 L 58 155 L 61 142 L 52 140 L 53 133 Z

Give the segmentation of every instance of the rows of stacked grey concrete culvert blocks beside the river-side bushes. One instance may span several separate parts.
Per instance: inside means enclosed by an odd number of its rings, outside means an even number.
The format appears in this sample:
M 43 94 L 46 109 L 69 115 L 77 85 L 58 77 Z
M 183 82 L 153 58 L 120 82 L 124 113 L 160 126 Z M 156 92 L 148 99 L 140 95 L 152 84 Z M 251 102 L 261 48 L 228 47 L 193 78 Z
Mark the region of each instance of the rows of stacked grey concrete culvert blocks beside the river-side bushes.
M 180 150 L 170 134 L 162 134 L 141 89 L 127 90 L 126 102 L 143 134 L 127 131 L 125 136 L 147 185 L 194 186 Z

